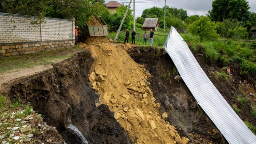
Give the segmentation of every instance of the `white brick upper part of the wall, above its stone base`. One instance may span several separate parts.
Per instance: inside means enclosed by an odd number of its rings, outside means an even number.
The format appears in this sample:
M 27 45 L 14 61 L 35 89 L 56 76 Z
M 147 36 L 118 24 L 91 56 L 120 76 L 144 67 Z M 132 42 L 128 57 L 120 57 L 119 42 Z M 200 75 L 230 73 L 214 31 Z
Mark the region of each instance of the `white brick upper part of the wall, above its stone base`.
M 40 33 L 40 26 L 30 25 L 22 16 L 0 13 L 0 44 L 75 39 L 74 22 L 55 18 L 45 18 L 45 21 Z

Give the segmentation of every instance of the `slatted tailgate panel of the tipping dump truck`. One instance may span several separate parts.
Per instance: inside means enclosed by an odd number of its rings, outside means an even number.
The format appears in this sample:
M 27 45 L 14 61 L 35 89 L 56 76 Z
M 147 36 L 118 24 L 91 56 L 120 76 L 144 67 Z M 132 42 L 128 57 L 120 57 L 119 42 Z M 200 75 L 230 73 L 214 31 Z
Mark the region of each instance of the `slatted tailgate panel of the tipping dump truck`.
M 109 35 L 108 26 L 88 26 L 90 37 Z

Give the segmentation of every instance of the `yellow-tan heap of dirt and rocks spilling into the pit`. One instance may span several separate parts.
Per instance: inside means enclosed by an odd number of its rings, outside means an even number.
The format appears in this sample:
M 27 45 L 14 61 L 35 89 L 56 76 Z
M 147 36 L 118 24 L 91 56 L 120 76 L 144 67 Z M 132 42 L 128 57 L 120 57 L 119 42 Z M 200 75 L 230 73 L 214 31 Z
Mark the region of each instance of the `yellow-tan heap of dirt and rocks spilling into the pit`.
M 131 59 L 122 45 L 112 46 L 106 38 L 95 37 L 80 46 L 88 48 L 95 60 L 88 77 L 91 87 L 134 142 L 188 143 L 160 114 L 160 103 L 155 102 L 147 81 L 149 71 Z

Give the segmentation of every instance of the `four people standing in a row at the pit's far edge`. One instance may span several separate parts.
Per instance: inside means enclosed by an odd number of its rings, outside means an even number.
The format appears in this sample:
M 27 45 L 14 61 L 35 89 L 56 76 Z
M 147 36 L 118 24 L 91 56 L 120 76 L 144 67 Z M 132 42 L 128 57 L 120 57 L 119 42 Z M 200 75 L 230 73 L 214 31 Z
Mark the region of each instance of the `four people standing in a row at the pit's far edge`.
M 129 29 L 126 30 L 126 33 L 125 33 L 125 42 L 127 41 L 128 43 L 128 39 L 129 39 L 129 35 L 130 35 L 130 32 L 129 32 Z M 136 32 L 132 29 L 132 32 L 131 32 L 131 43 L 132 44 L 135 44 L 135 35 L 136 35 Z M 143 43 L 147 43 L 147 37 L 148 37 L 148 34 L 147 34 L 147 31 L 145 31 L 142 36 L 143 37 Z M 151 29 L 150 30 L 150 45 L 153 45 L 153 38 L 154 38 L 154 31 Z M 124 43 L 125 43 L 124 42 Z

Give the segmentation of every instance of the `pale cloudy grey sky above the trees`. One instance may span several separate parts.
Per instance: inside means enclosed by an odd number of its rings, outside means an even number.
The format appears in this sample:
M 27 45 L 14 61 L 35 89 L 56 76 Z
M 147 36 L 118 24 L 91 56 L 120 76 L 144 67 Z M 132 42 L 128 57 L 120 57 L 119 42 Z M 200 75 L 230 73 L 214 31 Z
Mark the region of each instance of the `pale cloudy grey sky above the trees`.
M 118 1 L 118 0 L 116 0 Z M 119 0 L 118 2 L 125 2 L 128 5 L 129 0 Z M 206 15 L 212 9 L 213 0 L 166 0 L 166 5 L 174 8 L 182 8 L 188 12 L 188 15 Z M 256 12 L 256 0 L 248 0 L 251 7 L 250 11 Z M 106 1 L 107 2 L 107 1 Z M 141 16 L 143 10 L 157 6 L 163 8 L 165 0 L 135 0 L 136 3 L 136 17 Z M 147 3 L 145 3 L 147 2 Z M 132 2 L 133 3 L 133 2 Z M 133 4 L 131 5 L 133 9 Z

